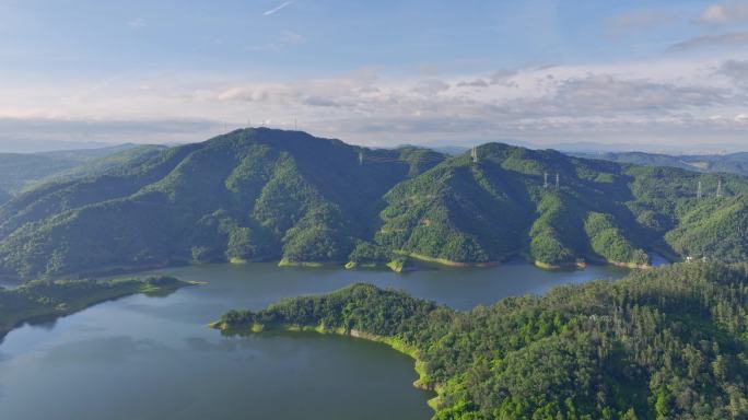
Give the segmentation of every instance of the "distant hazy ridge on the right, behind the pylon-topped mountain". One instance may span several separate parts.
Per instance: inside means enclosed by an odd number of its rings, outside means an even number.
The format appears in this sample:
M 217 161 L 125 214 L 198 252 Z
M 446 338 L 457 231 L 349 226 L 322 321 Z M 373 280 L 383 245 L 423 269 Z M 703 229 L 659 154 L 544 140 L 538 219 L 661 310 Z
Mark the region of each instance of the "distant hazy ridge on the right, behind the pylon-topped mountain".
M 670 155 L 644 152 L 572 153 L 578 158 L 633 163 L 648 166 L 671 166 L 691 171 L 725 172 L 748 175 L 748 152 L 727 154 Z

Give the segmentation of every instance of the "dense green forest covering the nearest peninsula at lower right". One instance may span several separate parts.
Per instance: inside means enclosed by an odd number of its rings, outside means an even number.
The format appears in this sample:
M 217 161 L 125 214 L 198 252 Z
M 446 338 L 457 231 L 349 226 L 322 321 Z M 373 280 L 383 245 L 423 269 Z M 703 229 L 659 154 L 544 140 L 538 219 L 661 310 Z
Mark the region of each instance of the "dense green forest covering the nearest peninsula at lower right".
M 748 266 L 683 262 L 456 312 L 357 284 L 231 311 L 225 334 L 316 328 L 418 359 L 434 419 L 748 418 Z M 365 378 L 362 378 L 365 381 Z

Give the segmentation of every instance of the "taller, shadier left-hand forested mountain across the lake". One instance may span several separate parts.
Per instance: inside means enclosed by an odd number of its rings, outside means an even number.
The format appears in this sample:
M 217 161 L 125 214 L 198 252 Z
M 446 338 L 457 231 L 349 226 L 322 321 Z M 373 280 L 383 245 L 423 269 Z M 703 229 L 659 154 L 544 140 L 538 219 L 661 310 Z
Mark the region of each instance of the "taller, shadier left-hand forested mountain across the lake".
M 32 277 L 225 259 L 344 260 L 374 231 L 382 196 L 418 172 L 412 153 L 237 130 L 12 200 L 0 209 L 1 264 Z M 430 165 L 441 159 L 431 155 Z

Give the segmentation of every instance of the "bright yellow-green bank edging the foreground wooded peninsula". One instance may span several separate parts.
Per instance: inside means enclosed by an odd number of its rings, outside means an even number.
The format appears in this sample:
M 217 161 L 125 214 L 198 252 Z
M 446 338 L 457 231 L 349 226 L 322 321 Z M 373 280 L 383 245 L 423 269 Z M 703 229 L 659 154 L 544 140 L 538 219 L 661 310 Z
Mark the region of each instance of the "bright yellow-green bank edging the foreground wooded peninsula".
M 420 357 L 420 351 L 413 347 L 410 346 L 406 342 L 402 342 L 401 340 L 395 338 L 395 337 L 385 337 L 385 336 L 377 336 L 375 334 L 369 334 L 365 331 L 361 331 L 358 329 L 346 329 L 342 327 L 339 328 L 327 328 L 324 325 L 318 325 L 318 326 L 312 326 L 312 325 L 285 325 L 285 324 L 277 324 L 277 325 L 264 325 L 264 324 L 252 324 L 252 325 L 246 325 L 243 327 L 229 327 L 225 323 L 221 320 L 215 320 L 212 323 L 208 324 L 209 328 L 218 329 L 222 334 L 262 334 L 262 332 L 270 332 L 270 331 L 282 331 L 282 332 L 302 332 L 302 331 L 307 331 L 307 332 L 316 332 L 316 334 L 323 334 L 323 335 L 336 335 L 340 337 L 349 337 L 349 338 L 355 338 L 355 339 L 361 339 L 361 340 L 366 340 L 370 342 L 379 342 L 383 345 L 386 345 L 390 349 L 406 354 L 410 357 L 413 362 L 414 366 L 413 370 L 418 374 L 418 378 L 413 381 L 412 385 L 413 387 L 430 392 L 430 393 L 435 393 L 436 395 L 432 398 L 429 398 L 426 400 L 426 405 L 434 411 L 436 412 L 436 409 L 439 407 L 439 404 L 442 398 L 443 394 L 443 386 L 442 384 L 433 384 L 429 385 L 429 376 L 426 375 L 425 372 L 425 362 L 421 359 Z

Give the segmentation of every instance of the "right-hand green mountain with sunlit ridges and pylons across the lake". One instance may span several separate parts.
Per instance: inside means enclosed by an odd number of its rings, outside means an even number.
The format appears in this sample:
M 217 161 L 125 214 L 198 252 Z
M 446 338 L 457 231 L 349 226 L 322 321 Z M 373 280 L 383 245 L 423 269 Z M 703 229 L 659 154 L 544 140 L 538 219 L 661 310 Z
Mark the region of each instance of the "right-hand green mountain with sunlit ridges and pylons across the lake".
M 709 230 L 691 222 L 698 219 L 693 214 L 706 212 L 712 225 L 724 226 L 746 218 L 745 207 L 713 198 L 722 179 L 722 196 L 745 202 L 748 189 L 739 177 L 621 165 L 498 143 L 478 148 L 477 154 L 477 162 L 469 154 L 456 156 L 393 188 L 385 196 L 388 206 L 381 213 L 384 223 L 375 242 L 396 253 L 456 264 L 524 254 L 548 266 L 584 260 L 645 265 L 645 249 L 746 256 L 726 253 L 720 245 L 724 237 L 716 235 L 700 235 L 698 246 L 680 244 L 683 235 Z M 697 199 L 699 180 L 702 199 Z M 716 211 L 723 208 L 728 210 Z M 737 231 L 721 235 L 734 245 L 746 243 Z

